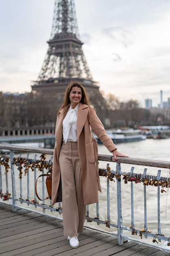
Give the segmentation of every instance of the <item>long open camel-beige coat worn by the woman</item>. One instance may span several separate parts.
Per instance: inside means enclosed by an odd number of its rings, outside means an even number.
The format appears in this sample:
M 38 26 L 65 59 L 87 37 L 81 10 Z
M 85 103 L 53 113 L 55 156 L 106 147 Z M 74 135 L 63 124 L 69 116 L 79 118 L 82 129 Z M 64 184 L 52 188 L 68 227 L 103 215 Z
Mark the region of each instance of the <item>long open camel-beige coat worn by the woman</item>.
M 66 108 L 66 112 L 69 106 Z M 62 121 L 66 115 L 64 110 L 57 116 L 55 128 L 55 148 L 53 155 L 53 177 L 52 177 L 52 205 L 55 204 L 58 186 L 60 182 L 60 163 L 59 155 L 62 144 Z M 77 146 L 82 167 L 82 187 L 84 204 L 98 202 L 98 190 L 101 192 L 98 164 L 97 147 L 93 144 L 91 128 L 97 137 L 103 142 L 106 148 L 112 152 L 116 149 L 115 144 L 104 130 L 102 122 L 97 117 L 95 110 L 87 105 L 80 103 L 77 110 Z

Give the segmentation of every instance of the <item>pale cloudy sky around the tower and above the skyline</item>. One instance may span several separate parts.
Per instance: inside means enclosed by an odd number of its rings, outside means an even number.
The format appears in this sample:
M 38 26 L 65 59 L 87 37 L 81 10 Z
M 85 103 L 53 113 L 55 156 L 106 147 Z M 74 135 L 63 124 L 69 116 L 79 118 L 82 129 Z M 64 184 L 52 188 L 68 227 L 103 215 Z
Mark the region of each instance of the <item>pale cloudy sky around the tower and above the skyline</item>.
M 48 49 L 54 0 L 0 0 L 0 91 L 31 92 Z M 75 0 L 93 80 L 119 101 L 170 98 L 170 0 Z

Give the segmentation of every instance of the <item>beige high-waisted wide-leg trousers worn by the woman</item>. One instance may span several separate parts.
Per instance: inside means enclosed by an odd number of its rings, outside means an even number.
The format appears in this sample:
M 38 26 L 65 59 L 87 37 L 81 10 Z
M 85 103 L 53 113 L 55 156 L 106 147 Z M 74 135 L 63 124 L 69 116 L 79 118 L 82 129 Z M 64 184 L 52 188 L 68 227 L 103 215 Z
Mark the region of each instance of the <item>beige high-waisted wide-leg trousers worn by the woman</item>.
M 86 218 L 82 192 L 82 170 L 77 142 L 63 142 L 59 156 L 62 178 L 62 216 L 64 236 L 77 236 Z

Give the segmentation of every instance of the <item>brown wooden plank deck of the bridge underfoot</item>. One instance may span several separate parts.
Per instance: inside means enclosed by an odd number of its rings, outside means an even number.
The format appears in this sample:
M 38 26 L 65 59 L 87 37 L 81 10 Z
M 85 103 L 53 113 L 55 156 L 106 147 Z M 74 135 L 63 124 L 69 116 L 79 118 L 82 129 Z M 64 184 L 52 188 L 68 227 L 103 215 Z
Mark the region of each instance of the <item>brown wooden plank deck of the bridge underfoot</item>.
M 29 210 L 12 212 L 0 203 L 0 255 L 3 256 L 169 256 L 136 242 L 117 245 L 117 237 L 85 228 L 79 234 L 79 247 L 72 249 L 63 236 L 62 220 Z

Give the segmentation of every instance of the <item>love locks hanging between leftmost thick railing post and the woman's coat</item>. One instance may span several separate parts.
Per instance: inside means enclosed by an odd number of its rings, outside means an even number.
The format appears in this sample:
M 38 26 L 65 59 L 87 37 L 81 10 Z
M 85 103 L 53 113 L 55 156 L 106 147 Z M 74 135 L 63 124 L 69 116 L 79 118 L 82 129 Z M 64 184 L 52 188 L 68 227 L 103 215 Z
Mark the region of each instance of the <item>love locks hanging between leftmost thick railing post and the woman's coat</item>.
M 45 161 L 46 155 L 42 154 L 40 156 L 40 160 L 36 159 L 28 159 L 24 157 L 14 157 L 11 164 L 18 166 L 18 171 L 20 171 L 19 178 L 22 178 L 22 173 L 24 172 L 24 176 L 31 168 L 34 171 L 35 168 L 38 168 L 39 171 L 43 171 L 43 169 L 48 169 L 48 172 L 52 172 L 53 164 L 50 161 Z M 24 168 L 24 171 L 22 169 Z

